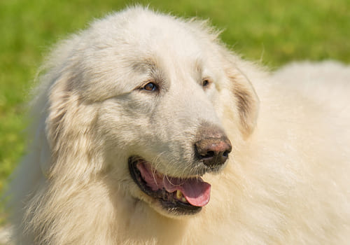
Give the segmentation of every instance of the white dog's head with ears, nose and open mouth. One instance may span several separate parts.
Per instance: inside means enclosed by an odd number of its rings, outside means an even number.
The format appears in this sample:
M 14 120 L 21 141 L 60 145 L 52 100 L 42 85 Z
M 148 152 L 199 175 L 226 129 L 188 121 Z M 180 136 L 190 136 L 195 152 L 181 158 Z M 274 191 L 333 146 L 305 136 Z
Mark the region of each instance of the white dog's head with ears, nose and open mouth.
M 79 101 L 85 109 L 74 120 L 87 127 L 125 195 L 167 216 L 196 214 L 210 198 L 202 176 L 221 171 L 235 144 L 223 118 L 233 118 L 241 134 L 255 123 L 250 83 L 216 35 L 197 22 L 136 9 L 91 29 L 76 38 L 64 64 L 69 78 L 53 86 L 51 97 L 65 99 L 51 106 L 52 115 L 61 115 L 49 116 L 51 147 L 62 151 L 55 145 L 65 134 L 57 128 L 71 127 L 60 126 L 67 112 L 55 108 L 66 104 L 69 111 L 70 101 Z M 228 97 L 232 104 L 222 104 Z

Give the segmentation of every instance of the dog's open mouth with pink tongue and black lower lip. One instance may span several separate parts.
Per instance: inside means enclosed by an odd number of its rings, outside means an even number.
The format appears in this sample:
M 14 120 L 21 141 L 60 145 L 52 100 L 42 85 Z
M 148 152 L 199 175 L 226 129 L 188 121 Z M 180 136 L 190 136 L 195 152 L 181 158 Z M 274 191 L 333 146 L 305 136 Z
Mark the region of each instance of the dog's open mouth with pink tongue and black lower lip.
M 137 156 L 130 157 L 128 162 L 137 186 L 167 211 L 178 215 L 196 214 L 209 202 L 211 186 L 200 176 L 188 179 L 166 176 Z

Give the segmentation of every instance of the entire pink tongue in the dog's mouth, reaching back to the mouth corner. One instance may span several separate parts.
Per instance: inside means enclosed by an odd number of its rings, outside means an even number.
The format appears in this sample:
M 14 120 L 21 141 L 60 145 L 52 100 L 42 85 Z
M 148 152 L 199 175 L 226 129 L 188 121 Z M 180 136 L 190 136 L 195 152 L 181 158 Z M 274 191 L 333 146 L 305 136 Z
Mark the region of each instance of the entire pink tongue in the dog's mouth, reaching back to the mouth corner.
M 168 193 L 180 190 L 187 202 L 196 207 L 203 207 L 210 199 L 210 184 L 202 179 L 160 178 L 151 171 L 147 163 L 137 165 L 141 176 L 152 190 L 161 190 L 163 187 Z

